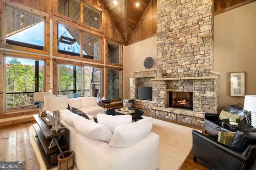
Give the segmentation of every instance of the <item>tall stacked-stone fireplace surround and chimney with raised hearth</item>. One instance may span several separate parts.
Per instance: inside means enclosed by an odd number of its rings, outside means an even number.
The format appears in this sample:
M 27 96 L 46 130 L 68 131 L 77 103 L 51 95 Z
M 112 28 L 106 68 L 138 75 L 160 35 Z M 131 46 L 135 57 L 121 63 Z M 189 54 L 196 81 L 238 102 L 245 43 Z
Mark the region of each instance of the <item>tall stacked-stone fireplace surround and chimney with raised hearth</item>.
M 203 126 L 203 113 L 217 113 L 213 7 L 213 0 L 158 0 L 157 75 L 150 114 Z M 193 110 L 168 107 L 169 91 L 193 92 Z

